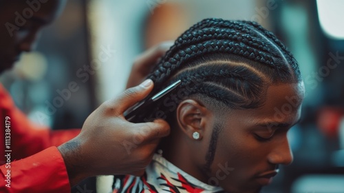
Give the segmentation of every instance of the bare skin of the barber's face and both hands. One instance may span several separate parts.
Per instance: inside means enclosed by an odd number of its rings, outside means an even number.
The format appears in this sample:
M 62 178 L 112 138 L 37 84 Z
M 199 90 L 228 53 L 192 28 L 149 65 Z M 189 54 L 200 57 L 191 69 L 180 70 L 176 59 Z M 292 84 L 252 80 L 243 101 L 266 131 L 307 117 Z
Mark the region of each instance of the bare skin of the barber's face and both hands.
M 14 61 L 19 59 L 22 52 L 30 52 L 34 48 L 41 28 L 56 19 L 65 1 L 49 0 L 41 3 L 41 8 L 25 21 L 24 26 L 11 32 L 6 28 L 6 23 L 15 24 L 14 12 L 21 14 L 24 8 L 28 8 L 28 4 L 19 0 L 1 3 L 0 73 L 12 68 Z M 153 66 L 170 45 L 171 43 L 158 45 L 138 57 L 133 65 L 128 87 L 141 83 L 143 77 L 147 76 L 147 68 Z M 169 134 L 169 125 L 162 120 L 129 123 L 125 120 L 123 112 L 144 99 L 152 89 L 153 82 L 147 81 L 145 85 L 129 88 L 115 99 L 105 101 L 87 117 L 76 138 L 58 147 L 65 161 L 71 186 L 89 176 L 106 174 L 140 176 L 144 173 L 144 168 L 150 163 L 160 138 Z M 140 139 L 140 143 L 133 143 L 133 148 L 128 152 L 122 143 L 133 142 L 134 139 Z

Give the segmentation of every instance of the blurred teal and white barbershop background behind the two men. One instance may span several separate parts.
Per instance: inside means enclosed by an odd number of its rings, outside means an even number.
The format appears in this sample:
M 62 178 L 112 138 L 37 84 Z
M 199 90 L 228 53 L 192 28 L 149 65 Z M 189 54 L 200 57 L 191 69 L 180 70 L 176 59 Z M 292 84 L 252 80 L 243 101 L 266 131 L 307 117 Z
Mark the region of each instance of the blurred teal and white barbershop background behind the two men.
M 294 54 L 306 88 L 302 121 L 288 133 L 294 162 L 263 192 L 344 192 L 343 8 L 341 0 L 69 0 L 36 50 L 0 81 L 32 121 L 81 128 L 100 103 L 125 90 L 140 52 L 204 18 L 257 21 Z M 79 89 L 67 97 L 72 82 Z M 104 181 L 87 179 L 73 192 L 85 184 L 107 192 Z

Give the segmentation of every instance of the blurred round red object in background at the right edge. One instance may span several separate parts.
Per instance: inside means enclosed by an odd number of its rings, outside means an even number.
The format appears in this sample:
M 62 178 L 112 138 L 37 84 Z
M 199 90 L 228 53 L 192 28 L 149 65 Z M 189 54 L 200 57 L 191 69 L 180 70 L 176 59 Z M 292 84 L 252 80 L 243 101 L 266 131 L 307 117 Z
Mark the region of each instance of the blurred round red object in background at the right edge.
M 339 124 L 343 117 L 343 108 L 325 107 L 319 110 L 316 123 L 325 136 L 334 137 L 338 135 Z

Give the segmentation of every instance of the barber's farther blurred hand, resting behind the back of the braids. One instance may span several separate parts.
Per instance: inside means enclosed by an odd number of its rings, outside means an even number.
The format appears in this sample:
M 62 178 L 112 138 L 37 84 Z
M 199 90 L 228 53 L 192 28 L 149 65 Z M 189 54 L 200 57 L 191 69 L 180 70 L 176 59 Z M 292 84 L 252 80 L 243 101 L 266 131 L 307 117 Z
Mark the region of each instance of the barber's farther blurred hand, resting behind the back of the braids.
M 151 69 L 157 63 L 158 59 L 160 59 L 172 45 L 173 41 L 164 41 L 140 54 L 140 56 L 135 59 L 131 68 L 127 88 L 131 88 L 141 83 L 149 72 L 151 72 Z

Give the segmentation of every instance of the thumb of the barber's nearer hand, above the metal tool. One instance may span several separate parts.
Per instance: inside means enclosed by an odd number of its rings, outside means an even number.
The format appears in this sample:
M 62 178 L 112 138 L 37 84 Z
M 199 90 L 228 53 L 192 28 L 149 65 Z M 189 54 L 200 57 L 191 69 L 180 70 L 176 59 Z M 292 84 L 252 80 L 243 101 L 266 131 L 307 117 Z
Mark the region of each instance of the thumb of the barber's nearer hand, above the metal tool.
M 142 99 L 144 99 L 144 97 L 148 96 L 151 90 L 153 90 L 153 81 L 151 79 L 147 79 L 140 85 L 137 85 L 133 88 L 128 88 L 127 90 L 122 92 L 111 103 L 113 105 L 117 105 L 116 111 L 119 114 L 122 114 L 129 107 L 131 107 L 135 103 L 138 103 L 138 101 L 141 101 Z

